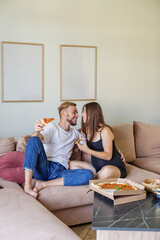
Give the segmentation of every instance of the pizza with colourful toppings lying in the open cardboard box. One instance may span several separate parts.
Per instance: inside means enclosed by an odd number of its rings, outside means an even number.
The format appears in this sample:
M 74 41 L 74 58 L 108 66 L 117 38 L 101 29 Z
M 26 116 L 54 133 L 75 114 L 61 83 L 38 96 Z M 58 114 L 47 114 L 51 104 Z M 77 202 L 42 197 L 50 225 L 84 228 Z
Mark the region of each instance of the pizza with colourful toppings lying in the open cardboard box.
M 102 182 L 95 184 L 99 189 L 113 189 L 113 190 L 136 190 L 135 187 L 130 186 L 126 183 L 116 183 L 116 182 Z

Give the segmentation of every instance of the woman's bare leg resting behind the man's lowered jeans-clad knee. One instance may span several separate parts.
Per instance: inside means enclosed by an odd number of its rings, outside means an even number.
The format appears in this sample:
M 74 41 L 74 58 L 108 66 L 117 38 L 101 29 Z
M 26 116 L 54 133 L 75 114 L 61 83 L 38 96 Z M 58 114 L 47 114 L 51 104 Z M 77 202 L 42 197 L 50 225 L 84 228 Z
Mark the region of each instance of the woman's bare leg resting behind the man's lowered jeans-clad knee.
M 89 169 L 93 172 L 94 176 L 96 175 L 96 169 L 92 164 L 84 161 L 70 161 L 69 169 Z

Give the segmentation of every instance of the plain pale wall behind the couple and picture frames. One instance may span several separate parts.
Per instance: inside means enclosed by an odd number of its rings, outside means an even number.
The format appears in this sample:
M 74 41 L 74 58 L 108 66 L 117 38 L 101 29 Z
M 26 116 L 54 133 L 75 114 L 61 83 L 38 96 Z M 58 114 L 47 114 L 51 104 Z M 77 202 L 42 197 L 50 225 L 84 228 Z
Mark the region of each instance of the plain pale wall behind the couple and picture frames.
M 30 134 L 41 117 L 59 120 L 60 44 L 97 46 L 106 122 L 160 123 L 159 0 L 0 0 L 0 41 L 43 43 L 45 53 L 44 102 L 2 103 L 0 92 L 0 137 Z

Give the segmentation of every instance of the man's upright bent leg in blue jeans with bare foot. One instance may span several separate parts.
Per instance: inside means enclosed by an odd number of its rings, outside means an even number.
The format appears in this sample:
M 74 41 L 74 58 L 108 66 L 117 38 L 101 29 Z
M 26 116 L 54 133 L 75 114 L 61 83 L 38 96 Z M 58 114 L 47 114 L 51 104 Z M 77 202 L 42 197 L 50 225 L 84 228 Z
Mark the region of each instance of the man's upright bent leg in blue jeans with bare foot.
M 24 191 L 36 198 L 37 192 L 31 187 L 32 177 L 47 180 L 49 172 L 49 163 L 43 144 L 38 137 L 31 137 L 28 140 L 23 169 L 25 169 Z

